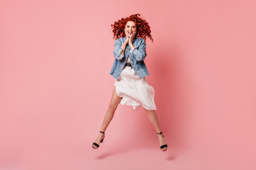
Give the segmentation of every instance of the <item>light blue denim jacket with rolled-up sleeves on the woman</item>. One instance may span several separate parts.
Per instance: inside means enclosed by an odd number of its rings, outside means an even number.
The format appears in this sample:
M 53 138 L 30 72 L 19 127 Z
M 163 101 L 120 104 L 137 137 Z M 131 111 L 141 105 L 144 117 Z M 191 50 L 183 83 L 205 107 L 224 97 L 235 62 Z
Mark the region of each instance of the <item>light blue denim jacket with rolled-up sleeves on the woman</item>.
M 125 40 L 126 38 L 118 38 L 115 41 L 115 50 L 113 51 L 115 61 L 112 65 L 110 74 L 118 79 L 129 56 L 132 68 L 134 69 L 135 73 L 140 78 L 148 76 L 148 69 L 146 68 L 146 65 L 143 61 L 147 55 L 146 42 L 142 38 L 135 38 L 132 42 L 132 44 L 135 46 L 135 49 L 131 51 L 130 46 L 127 44 L 124 55 L 121 55 L 120 53 L 123 51 L 121 45 Z

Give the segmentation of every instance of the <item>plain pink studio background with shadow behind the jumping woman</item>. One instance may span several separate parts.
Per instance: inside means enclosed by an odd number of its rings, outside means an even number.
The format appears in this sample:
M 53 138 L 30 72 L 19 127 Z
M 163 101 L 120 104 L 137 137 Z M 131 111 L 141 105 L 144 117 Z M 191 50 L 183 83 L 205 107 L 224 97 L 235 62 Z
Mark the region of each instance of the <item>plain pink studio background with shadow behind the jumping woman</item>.
M 1 0 L 0 170 L 255 170 L 254 0 Z M 120 105 L 111 24 L 151 26 L 148 83 L 168 142 Z

